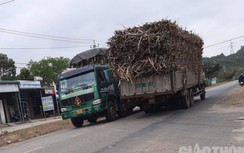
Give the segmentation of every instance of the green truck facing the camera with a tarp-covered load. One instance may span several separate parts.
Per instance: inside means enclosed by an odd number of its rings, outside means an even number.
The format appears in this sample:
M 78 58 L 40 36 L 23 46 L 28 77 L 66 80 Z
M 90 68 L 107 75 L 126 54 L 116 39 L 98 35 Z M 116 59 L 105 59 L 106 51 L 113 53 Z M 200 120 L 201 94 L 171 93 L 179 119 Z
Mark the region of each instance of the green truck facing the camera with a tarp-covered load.
M 101 116 L 113 121 L 121 114 L 118 83 L 108 64 L 89 61 L 106 59 L 106 53 L 105 48 L 95 48 L 78 54 L 70 61 L 69 69 L 58 77 L 61 116 L 71 119 L 75 127 L 83 126 L 84 120 L 95 123 Z

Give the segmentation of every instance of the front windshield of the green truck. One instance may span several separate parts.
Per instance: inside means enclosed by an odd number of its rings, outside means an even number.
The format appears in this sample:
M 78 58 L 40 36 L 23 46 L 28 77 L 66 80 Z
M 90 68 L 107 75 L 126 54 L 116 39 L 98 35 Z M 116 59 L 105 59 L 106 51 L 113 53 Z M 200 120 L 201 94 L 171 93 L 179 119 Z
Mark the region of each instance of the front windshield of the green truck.
M 78 88 L 88 88 L 95 85 L 95 73 L 89 72 L 75 77 L 60 80 L 60 92 L 68 93 Z

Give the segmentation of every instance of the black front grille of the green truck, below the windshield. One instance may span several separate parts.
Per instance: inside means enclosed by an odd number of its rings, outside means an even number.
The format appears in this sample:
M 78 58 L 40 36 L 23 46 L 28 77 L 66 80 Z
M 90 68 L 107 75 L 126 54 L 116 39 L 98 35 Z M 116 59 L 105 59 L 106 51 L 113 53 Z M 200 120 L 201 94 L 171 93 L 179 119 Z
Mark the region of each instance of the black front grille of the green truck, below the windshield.
M 88 101 L 94 99 L 94 93 L 88 93 L 85 95 L 80 95 L 78 97 L 81 100 L 81 105 L 83 105 L 85 102 L 88 102 Z M 74 106 L 75 105 L 75 97 L 62 100 L 62 104 L 63 104 L 63 106 Z

